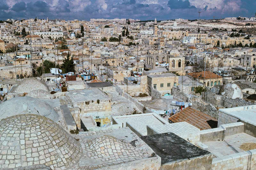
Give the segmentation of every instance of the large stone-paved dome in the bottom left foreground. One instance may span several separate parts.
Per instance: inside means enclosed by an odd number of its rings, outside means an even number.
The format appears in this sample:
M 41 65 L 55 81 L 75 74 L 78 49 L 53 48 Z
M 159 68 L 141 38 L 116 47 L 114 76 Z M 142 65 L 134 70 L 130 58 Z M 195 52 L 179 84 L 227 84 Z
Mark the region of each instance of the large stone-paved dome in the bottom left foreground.
M 79 161 L 80 144 L 54 121 L 22 114 L 0 121 L 0 167 L 45 165 L 67 169 Z

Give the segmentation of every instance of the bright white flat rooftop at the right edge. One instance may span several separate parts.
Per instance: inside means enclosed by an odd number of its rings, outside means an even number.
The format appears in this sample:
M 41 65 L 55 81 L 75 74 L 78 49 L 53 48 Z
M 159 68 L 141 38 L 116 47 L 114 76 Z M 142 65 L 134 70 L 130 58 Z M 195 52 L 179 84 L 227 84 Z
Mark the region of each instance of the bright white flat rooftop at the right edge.
M 256 105 L 232 107 L 219 111 L 256 126 Z

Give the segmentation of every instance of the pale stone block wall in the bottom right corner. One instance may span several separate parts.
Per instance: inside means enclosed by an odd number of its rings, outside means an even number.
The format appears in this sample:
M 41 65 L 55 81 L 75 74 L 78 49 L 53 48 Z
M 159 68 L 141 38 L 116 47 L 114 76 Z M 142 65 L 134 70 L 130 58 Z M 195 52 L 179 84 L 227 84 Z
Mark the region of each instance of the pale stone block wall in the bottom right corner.
M 256 149 L 212 159 L 212 170 L 255 170 Z

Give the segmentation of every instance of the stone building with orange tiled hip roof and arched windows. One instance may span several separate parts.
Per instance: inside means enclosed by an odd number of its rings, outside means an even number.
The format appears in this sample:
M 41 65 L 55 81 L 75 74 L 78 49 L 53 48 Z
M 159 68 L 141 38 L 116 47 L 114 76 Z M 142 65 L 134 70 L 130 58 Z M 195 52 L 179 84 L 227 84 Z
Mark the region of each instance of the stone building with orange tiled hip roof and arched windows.
M 209 88 L 211 88 L 215 85 L 223 84 L 222 77 L 215 73 L 212 73 L 210 71 L 188 73 L 187 76 L 189 76 L 191 78 L 196 78 L 204 86 L 209 87 Z M 194 89 L 192 89 L 192 91 L 194 91 Z

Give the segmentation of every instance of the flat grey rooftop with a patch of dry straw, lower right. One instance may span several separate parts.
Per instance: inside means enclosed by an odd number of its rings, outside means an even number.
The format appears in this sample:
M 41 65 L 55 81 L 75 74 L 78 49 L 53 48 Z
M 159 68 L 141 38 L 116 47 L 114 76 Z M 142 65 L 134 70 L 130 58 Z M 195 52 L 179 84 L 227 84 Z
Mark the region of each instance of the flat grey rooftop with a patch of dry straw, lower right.
M 244 143 L 256 143 L 256 138 L 246 133 L 238 133 L 225 137 L 223 141 L 204 142 L 208 151 L 216 157 L 243 152 L 240 146 Z

